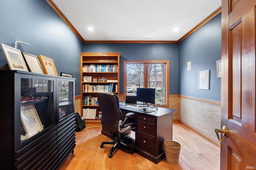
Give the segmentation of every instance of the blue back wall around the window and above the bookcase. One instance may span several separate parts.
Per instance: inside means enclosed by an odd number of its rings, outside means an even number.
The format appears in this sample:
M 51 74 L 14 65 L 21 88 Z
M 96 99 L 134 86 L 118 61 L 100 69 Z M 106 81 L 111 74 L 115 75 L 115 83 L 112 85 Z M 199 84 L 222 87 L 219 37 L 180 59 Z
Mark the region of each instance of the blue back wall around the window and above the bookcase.
M 84 44 L 84 52 L 120 52 L 120 94 L 124 60 L 169 60 L 169 93 L 178 94 L 178 44 Z

